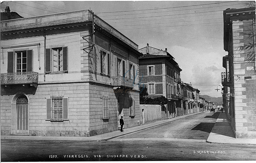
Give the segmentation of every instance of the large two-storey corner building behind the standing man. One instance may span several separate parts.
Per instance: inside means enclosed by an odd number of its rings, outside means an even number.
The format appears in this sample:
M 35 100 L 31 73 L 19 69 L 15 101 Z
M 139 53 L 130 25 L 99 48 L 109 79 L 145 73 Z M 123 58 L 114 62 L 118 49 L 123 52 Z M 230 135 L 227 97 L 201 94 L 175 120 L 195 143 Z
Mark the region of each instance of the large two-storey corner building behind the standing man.
M 1 135 L 92 136 L 141 123 L 138 45 L 90 10 L 1 21 Z

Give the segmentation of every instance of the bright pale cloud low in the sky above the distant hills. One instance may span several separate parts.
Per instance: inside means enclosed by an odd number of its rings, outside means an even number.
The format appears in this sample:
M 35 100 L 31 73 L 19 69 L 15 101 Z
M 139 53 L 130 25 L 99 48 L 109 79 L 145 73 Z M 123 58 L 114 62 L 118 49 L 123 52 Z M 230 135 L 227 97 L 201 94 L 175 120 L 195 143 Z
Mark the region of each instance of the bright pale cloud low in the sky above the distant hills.
M 182 69 L 180 76 L 183 82 L 192 83 L 193 88 L 201 94 L 220 97 L 215 89 L 221 84 L 222 53 L 208 49 L 195 50 L 182 46 L 173 46 L 170 50 L 175 61 Z

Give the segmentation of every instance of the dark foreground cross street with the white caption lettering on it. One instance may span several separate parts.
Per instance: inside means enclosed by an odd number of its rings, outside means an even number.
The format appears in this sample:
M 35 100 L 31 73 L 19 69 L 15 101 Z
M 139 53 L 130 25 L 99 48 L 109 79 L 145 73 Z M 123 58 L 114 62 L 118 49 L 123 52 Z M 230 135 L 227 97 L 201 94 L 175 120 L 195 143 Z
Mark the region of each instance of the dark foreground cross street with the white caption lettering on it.
M 197 153 L 197 151 L 202 151 L 202 153 Z M 218 151 L 220 152 L 218 153 Z M 49 155 L 57 155 L 57 158 L 49 158 L 51 157 Z M 71 158 L 67 158 L 67 155 L 68 157 L 70 155 Z M 83 158 L 78 158 L 81 157 L 80 155 L 83 155 Z M 86 158 L 86 155 L 88 158 Z M 118 157 L 116 157 L 117 155 Z M 140 156 L 140 158 L 138 158 L 138 156 Z M 30 142 L 16 140 L 1 141 L 1 161 L 153 161 L 255 159 L 256 145 L 224 145 L 194 141 L 183 142 L 149 140 L 79 143 Z

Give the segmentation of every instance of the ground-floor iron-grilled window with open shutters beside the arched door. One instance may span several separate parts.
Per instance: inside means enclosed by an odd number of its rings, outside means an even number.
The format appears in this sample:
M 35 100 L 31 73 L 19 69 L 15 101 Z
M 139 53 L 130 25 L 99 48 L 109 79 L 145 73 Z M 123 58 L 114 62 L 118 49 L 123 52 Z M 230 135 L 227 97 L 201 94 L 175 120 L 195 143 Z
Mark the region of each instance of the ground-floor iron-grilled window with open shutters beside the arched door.
M 51 96 L 51 98 L 46 100 L 47 120 L 68 120 L 68 98 L 63 98 L 63 96 Z

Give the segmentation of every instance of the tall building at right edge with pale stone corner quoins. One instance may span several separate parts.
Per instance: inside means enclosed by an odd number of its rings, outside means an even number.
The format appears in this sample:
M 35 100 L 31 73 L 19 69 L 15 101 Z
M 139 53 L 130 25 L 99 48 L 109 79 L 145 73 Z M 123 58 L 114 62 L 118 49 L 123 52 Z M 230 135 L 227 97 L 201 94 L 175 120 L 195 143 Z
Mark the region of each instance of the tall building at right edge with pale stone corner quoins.
M 223 104 L 236 138 L 256 138 L 255 7 L 223 11 Z

